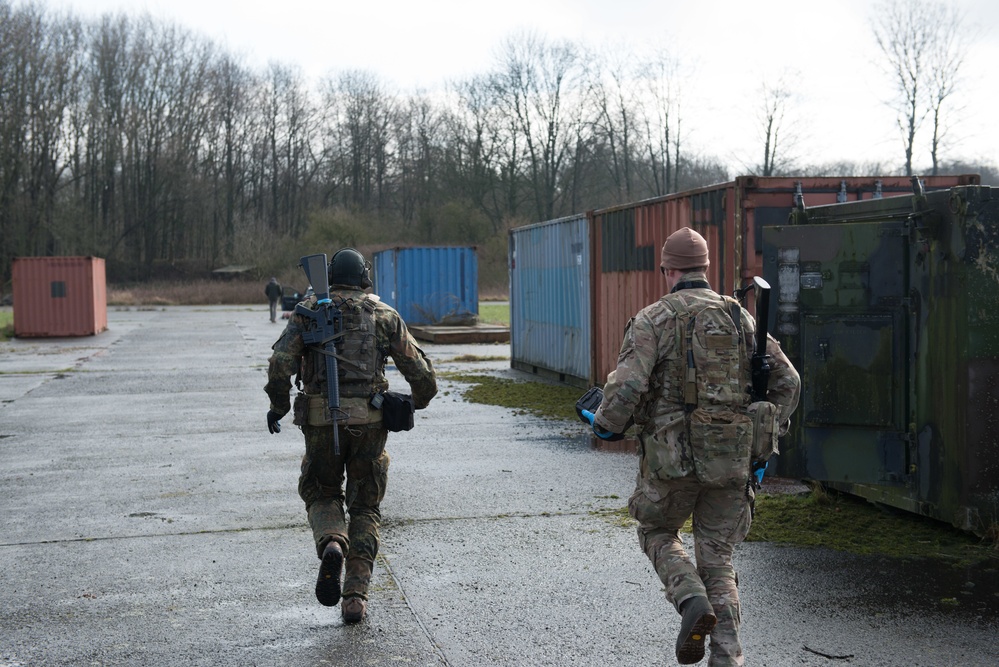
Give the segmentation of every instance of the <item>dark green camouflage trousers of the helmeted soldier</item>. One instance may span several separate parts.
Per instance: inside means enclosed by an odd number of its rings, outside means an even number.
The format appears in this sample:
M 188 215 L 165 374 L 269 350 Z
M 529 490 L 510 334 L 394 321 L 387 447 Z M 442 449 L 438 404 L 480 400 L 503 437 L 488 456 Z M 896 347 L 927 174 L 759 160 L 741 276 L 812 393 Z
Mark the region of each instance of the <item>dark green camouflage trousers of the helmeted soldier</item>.
M 343 547 L 346 555 L 343 596 L 367 599 L 371 570 L 378 555 L 379 506 L 388 481 L 389 457 L 385 453 L 388 431 L 380 424 L 349 429 L 340 429 L 340 456 L 336 456 L 333 427 L 302 427 L 305 456 L 298 495 L 305 501 L 317 555 L 322 558 L 330 540 Z M 344 515 L 345 503 L 350 515 L 349 527 Z

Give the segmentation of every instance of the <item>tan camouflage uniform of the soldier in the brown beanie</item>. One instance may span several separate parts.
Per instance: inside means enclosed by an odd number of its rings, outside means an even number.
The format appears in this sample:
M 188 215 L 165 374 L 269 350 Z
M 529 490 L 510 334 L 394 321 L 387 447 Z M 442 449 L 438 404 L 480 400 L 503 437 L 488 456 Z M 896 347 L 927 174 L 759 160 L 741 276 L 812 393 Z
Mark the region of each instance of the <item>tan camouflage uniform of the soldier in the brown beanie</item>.
M 680 280 L 706 284 L 700 271 L 684 273 Z M 603 430 L 620 433 L 634 416 L 641 428 L 641 458 L 628 509 L 639 523 L 639 543 L 677 610 L 694 596 L 706 595 L 710 600 L 718 618 L 711 634 L 710 664 L 742 665 L 739 593 L 732 555 L 752 520 L 750 470 L 747 461 L 745 482 L 728 487 L 706 486 L 698 480 L 693 449 L 686 442 L 683 387 L 678 381 L 682 377 L 678 365 L 683 360 L 678 358 L 677 320 L 670 307 L 680 298 L 696 304 L 721 297 L 708 288 L 684 289 L 682 295 L 668 294 L 632 318 L 625 329 L 618 366 L 604 386 L 595 422 Z M 745 309 L 741 312 L 741 329 L 751 354 L 756 324 Z M 767 400 L 778 406 L 783 434 L 798 404 L 800 381 L 773 338 L 767 352 L 772 357 Z M 746 359 L 745 367 L 749 364 Z M 696 567 L 679 534 L 691 514 Z

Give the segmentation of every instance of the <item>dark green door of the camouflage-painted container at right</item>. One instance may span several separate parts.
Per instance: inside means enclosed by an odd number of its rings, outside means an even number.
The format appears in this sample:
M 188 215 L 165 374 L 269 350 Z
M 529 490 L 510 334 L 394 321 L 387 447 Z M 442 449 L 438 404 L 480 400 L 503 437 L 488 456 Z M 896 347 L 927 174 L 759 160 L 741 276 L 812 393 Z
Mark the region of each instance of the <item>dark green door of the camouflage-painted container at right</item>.
M 909 459 L 908 235 L 903 223 L 765 228 L 771 331 L 801 374 L 783 474 L 904 484 Z

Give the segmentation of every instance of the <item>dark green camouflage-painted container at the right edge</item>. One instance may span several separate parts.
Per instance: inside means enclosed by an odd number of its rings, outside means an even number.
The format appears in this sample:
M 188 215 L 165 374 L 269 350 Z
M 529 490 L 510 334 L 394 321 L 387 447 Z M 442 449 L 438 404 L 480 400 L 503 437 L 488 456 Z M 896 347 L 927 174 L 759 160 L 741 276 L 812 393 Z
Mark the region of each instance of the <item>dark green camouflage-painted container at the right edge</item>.
M 999 528 L 999 188 L 796 211 L 762 230 L 801 373 L 777 472 Z

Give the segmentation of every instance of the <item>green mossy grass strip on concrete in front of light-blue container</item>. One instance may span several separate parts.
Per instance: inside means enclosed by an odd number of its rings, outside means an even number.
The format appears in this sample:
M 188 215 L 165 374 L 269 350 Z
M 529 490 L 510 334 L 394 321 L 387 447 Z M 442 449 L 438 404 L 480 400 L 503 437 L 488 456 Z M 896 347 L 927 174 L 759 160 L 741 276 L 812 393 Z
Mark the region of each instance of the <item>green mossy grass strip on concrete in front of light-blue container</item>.
M 515 414 L 529 413 L 545 419 L 575 419 L 575 405 L 580 391 L 575 387 L 519 382 L 491 375 L 442 373 L 442 377 L 470 385 L 466 401 L 513 408 Z

